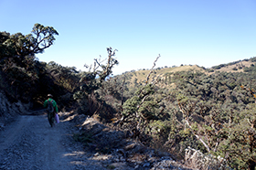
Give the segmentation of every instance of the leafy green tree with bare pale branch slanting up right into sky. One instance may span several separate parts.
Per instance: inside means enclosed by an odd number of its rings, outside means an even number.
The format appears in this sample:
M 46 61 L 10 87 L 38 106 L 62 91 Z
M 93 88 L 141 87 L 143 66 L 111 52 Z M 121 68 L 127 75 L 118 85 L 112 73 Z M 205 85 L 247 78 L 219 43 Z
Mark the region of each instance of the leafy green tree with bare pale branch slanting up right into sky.
M 155 59 L 155 62 L 158 58 L 160 55 Z M 143 134 L 149 122 L 157 120 L 156 115 L 161 112 L 161 110 L 159 111 L 159 101 L 153 97 L 157 80 L 149 83 L 150 75 L 154 73 L 155 62 L 144 85 L 136 90 L 132 98 L 123 103 L 123 117 L 120 124 L 123 128 L 133 129 L 133 133 Z

